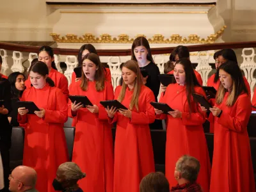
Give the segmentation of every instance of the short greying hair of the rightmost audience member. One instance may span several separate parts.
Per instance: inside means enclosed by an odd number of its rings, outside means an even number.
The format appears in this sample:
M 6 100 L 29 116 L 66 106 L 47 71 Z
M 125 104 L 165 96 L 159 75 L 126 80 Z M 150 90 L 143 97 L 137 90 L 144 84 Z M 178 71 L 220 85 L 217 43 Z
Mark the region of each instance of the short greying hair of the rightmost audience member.
M 200 170 L 200 163 L 195 157 L 182 156 L 176 163 L 176 170 L 180 172 L 181 177 L 195 182 Z

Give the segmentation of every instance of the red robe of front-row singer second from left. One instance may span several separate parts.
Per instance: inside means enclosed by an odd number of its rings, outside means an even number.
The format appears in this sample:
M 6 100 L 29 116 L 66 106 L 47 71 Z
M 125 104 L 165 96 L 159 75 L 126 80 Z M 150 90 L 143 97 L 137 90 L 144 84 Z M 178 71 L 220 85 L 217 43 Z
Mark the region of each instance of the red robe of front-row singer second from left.
M 84 95 L 99 108 L 99 113 L 91 113 L 81 108 L 76 115 L 76 134 L 72 161 L 86 173 L 86 178 L 79 180 L 83 191 L 113 192 L 113 137 L 111 124 L 108 122 L 106 109 L 101 100 L 114 98 L 113 86 L 105 81 L 102 92 L 95 89 L 95 81 L 88 81 L 88 90 L 80 88 L 81 80 L 72 83 L 70 95 Z M 71 101 L 68 102 L 68 116 L 71 113 Z

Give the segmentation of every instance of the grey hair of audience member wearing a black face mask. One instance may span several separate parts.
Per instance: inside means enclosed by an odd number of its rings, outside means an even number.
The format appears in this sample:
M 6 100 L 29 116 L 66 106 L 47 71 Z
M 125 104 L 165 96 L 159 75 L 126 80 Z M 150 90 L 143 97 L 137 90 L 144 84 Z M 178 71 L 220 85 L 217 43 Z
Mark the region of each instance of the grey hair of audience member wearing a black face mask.
M 79 180 L 86 176 L 86 174 L 83 173 L 79 166 L 74 162 L 62 163 L 59 166 L 58 171 L 62 172 L 67 180 Z

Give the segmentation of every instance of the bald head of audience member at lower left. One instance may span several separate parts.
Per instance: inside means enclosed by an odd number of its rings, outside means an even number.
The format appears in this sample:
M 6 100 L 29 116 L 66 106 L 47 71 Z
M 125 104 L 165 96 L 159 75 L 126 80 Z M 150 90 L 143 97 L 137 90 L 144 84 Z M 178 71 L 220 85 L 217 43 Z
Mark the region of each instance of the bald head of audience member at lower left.
M 17 166 L 12 171 L 13 178 L 22 182 L 25 186 L 35 187 L 36 185 L 36 171 L 29 166 Z

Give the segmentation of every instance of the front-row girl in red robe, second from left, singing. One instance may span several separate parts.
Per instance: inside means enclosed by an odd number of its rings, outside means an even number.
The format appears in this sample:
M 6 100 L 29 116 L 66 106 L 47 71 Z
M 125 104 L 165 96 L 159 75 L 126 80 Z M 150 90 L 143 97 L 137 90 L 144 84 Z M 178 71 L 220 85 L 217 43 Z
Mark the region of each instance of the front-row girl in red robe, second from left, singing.
M 82 59 L 82 77 L 70 85 L 70 95 L 86 96 L 93 106 L 76 101 L 68 104 L 68 116 L 76 117 L 72 161 L 86 173 L 80 180 L 83 191 L 113 191 L 113 138 L 106 109 L 101 100 L 114 98 L 113 86 L 106 81 L 99 56 L 86 54 Z

